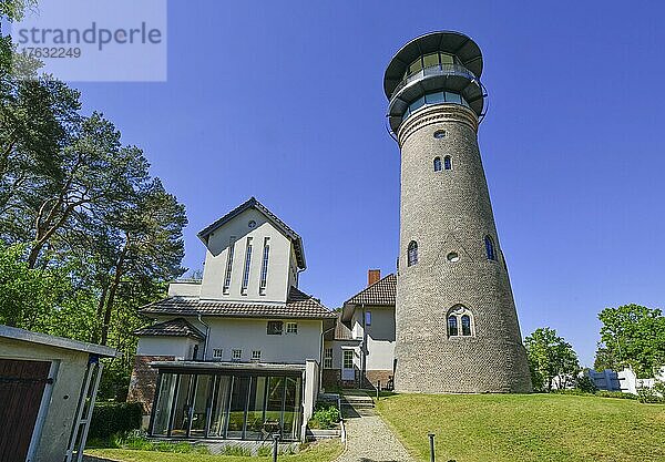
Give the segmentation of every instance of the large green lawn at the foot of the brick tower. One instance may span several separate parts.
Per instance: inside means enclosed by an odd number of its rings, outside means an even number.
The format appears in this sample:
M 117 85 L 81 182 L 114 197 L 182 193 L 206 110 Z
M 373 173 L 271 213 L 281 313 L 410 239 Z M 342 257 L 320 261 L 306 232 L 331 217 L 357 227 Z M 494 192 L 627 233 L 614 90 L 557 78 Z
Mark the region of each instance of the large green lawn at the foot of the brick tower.
M 413 454 L 457 462 L 664 462 L 665 405 L 566 394 L 398 394 L 381 415 Z

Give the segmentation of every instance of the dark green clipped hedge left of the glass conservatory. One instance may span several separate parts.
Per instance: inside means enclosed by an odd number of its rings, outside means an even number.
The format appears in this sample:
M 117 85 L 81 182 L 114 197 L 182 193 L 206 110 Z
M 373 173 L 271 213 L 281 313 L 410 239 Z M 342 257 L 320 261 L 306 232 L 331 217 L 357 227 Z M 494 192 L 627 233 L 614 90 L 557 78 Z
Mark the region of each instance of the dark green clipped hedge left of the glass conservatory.
M 141 428 L 143 407 L 140 402 L 100 402 L 92 411 L 88 438 L 106 439 L 114 433 Z

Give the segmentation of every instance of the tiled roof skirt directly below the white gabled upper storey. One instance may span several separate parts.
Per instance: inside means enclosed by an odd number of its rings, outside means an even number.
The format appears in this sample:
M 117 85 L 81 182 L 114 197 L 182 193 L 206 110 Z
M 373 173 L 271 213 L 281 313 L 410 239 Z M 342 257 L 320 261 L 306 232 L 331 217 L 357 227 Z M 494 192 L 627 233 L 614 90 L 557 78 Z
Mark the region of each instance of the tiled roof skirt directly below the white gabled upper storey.
M 194 297 L 168 297 L 142 308 L 146 315 L 223 316 L 235 318 L 310 318 L 332 319 L 335 312 L 316 298 L 291 287 L 286 305 L 200 300 Z

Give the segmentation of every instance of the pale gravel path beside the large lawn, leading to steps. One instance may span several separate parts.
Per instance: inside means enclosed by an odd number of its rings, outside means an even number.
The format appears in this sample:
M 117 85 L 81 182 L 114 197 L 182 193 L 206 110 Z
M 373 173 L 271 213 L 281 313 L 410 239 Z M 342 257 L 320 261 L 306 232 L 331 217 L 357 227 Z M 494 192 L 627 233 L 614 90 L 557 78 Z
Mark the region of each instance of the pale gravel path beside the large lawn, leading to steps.
M 374 409 L 345 418 L 347 444 L 335 462 L 416 462 Z

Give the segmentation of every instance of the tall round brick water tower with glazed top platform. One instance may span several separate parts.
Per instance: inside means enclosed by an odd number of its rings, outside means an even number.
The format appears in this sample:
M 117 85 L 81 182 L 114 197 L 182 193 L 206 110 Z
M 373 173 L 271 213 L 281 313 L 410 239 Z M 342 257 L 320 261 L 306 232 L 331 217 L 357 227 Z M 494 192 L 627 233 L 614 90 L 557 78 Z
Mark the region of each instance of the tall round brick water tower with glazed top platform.
M 531 391 L 478 147 L 481 73 L 479 47 L 458 32 L 410 41 L 386 70 L 401 151 L 398 391 Z

